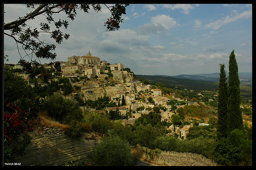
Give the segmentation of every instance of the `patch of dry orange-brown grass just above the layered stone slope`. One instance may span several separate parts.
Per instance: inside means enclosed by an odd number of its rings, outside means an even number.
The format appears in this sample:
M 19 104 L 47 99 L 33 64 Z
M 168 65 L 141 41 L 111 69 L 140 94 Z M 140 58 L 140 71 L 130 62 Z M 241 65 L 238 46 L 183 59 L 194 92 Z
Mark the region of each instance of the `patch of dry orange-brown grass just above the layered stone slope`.
M 36 123 L 36 128 L 59 128 L 61 130 L 67 129 L 69 126 L 60 124 L 59 122 L 56 122 L 54 119 L 52 119 L 50 116 L 47 115 L 47 112 L 41 112 L 37 114 L 37 123 Z

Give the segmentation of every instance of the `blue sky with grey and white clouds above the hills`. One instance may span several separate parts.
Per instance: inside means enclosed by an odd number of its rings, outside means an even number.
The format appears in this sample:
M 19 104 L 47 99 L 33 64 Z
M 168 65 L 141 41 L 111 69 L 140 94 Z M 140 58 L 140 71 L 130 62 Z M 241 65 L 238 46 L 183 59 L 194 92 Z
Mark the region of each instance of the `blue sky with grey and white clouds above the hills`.
M 4 22 L 8 23 L 32 9 L 5 4 L 4 11 Z M 78 10 L 74 21 L 65 13 L 54 15 L 56 20 L 69 20 L 68 28 L 61 31 L 70 34 L 67 41 L 57 44 L 56 61 L 90 51 L 100 60 L 124 64 L 136 75 L 177 76 L 220 72 L 219 64 L 223 63 L 228 71 L 234 50 L 239 72 L 252 72 L 251 4 L 130 4 L 120 29 L 107 32 L 104 22 L 110 16 L 103 5 L 98 13 Z M 46 18 L 41 15 L 27 25 L 39 29 L 42 21 Z M 47 33 L 41 33 L 39 39 L 54 42 Z M 19 51 L 25 56 L 21 46 Z M 16 43 L 6 35 L 4 55 L 9 56 L 5 63 L 16 64 L 20 59 Z

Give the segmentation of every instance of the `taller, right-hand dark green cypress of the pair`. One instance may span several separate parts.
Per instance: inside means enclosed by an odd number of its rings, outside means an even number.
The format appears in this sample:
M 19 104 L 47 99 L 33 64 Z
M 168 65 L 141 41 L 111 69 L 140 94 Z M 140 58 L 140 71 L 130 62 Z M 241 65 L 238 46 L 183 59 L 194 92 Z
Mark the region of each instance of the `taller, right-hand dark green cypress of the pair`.
M 234 50 L 229 56 L 228 99 L 227 99 L 227 135 L 234 129 L 243 129 L 243 118 L 240 109 L 240 80 L 238 64 Z

